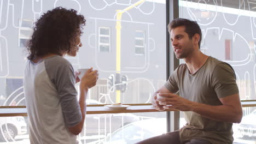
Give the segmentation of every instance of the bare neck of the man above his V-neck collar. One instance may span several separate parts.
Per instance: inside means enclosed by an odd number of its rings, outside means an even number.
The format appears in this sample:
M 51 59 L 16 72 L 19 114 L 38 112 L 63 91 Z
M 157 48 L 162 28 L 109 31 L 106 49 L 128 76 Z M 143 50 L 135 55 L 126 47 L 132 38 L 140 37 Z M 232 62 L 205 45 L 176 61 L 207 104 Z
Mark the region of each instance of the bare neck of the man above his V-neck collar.
M 203 54 L 200 50 L 193 53 L 193 55 L 184 58 L 185 63 L 189 69 L 190 74 L 195 74 L 203 64 L 206 63 L 209 56 Z

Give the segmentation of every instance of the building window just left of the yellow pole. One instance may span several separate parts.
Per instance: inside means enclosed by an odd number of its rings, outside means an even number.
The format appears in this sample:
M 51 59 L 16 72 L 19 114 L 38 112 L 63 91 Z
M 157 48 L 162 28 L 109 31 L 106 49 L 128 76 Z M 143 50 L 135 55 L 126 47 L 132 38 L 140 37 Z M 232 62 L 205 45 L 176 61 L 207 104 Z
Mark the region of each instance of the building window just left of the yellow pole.
M 99 27 L 98 47 L 100 52 L 110 52 L 110 28 Z

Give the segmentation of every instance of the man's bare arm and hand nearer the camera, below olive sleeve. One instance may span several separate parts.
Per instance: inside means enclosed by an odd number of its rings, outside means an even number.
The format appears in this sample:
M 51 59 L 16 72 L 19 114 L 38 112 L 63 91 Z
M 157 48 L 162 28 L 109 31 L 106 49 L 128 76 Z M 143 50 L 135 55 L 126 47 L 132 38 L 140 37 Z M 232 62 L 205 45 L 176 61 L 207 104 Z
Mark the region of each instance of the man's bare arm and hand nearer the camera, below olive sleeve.
M 161 94 L 165 98 L 157 99 L 159 103 L 172 106 L 164 106 L 165 109 L 176 109 L 180 111 L 193 111 L 202 117 L 214 119 L 216 121 L 240 123 L 242 119 L 242 106 L 239 94 L 232 94 L 228 97 L 220 98 L 223 105 L 212 106 L 194 101 L 189 101 L 176 94 Z M 166 101 L 166 102 L 161 102 Z

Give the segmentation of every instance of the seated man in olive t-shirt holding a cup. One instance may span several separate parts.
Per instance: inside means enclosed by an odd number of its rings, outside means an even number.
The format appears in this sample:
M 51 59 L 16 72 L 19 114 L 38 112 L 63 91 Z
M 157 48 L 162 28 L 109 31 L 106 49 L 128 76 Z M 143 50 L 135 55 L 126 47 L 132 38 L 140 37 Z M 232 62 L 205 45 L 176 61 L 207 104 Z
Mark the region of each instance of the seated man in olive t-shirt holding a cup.
M 232 123 L 242 119 L 235 71 L 200 51 L 202 34 L 197 22 L 174 19 L 168 31 L 176 57 L 183 58 L 185 64 L 179 65 L 154 93 L 152 104 L 157 110 L 184 111 L 187 124 L 178 131 L 138 143 L 231 144 Z M 157 93 L 162 98 L 157 98 Z

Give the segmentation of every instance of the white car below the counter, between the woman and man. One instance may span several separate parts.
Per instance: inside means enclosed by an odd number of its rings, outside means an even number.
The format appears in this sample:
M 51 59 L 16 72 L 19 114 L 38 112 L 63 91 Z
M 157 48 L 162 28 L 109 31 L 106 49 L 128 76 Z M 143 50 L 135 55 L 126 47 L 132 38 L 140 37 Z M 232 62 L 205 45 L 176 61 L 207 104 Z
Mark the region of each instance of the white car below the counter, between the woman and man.
M 180 118 L 179 126 L 183 127 L 185 119 Z M 152 118 L 133 122 L 119 128 L 105 139 L 88 144 L 133 144 L 150 137 L 166 133 L 166 118 Z

